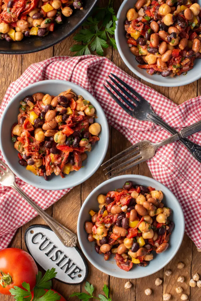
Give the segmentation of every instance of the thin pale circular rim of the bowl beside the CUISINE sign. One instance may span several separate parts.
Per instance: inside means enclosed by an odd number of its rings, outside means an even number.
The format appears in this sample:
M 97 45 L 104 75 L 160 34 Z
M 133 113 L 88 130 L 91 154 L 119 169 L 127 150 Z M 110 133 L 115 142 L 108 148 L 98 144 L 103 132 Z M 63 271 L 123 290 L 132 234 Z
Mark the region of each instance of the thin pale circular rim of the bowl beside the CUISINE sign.
M 153 181 L 153 183 L 157 183 L 157 184 L 159 183 L 160 185 L 162 185 L 162 190 L 163 190 L 163 191 L 168 190 L 169 193 L 172 194 L 172 198 L 178 203 L 178 205 L 179 205 L 179 207 L 180 207 L 180 214 L 181 214 L 181 216 L 183 217 L 183 219 L 181 219 L 181 221 L 180 221 L 180 222 L 181 222 L 181 228 L 183 229 L 183 231 L 182 231 L 181 237 L 179 237 L 178 244 L 177 244 L 177 247 L 176 247 L 176 249 L 175 249 L 175 252 L 172 253 L 172 255 L 170 256 L 170 258 L 169 258 L 163 265 L 161 265 L 160 268 L 154 270 L 153 273 L 151 273 L 151 272 L 150 272 L 150 273 L 149 273 L 149 272 L 146 273 L 146 271 L 145 271 L 145 275 L 144 275 L 144 276 L 133 277 L 133 278 L 132 278 L 132 275 L 130 275 L 130 274 L 128 275 L 128 277 L 129 277 L 130 279 L 143 278 L 143 277 L 147 277 L 147 276 L 149 276 L 149 275 L 152 275 L 152 274 L 158 272 L 159 270 L 161 270 L 162 268 L 164 268 L 164 266 L 167 265 L 167 264 L 172 260 L 172 258 L 176 255 L 176 253 L 178 252 L 178 250 L 179 250 L 179 248 L 180 248 L 180 246 L 181 246 L 181 243 L 182 243 L 182 240 L 183 240 L 183 237 L 184 237 L 184 230 L 185 230 L 184 213 L 183 213 L 183 211 L 182 211 L 182 209 L 181 209 L 181 205 L 179 204 L 177 198 L 176 198 L 175 195 L 169 190 L 169 188 L 167 188 L 167 187 L 166 187 L 165 185 L 163 185 L 162 183 L 156 181 L 155 179 L 146 177 L 146 176 L 144 176 L 144 175 L 119 175 L 119 176 L 117 176 L 117 177 L 114 177 L 114 178 L 108 179 L 107 181 L 104 181 L 103 183 L 101 183 L 100 185 L 98 185 L 96 188 L 94 188 L 94 190 L 92 190 L 92 191 L 90 192 L 90 194 L 88 195 L 88 197 L 85 199 L 85 201 L 84 201 L 84 203 L 83 203 L 83 205 L 82 205 L 82 207 L 81 207 L 81 209 L 80 209 L 80 212 L 79 212 L 78 221 L 77 221 L 77 235 L 78 235 L 78 241 L 79 241 L 79 245 L 80 245 L 81 250 L 82 250 L 82 252 L 84 253 L 85 257 L 91 262 L 92 265 L 94 265 L 95 268 L 97 268 L 96 262 L 95 262 L 93 259 L 91 259 L 91 258 L 89 259 L 88 253 L 85 251 L 85 248 L 84 248 L 84 246 L 83 246 L 83 244 L 82 244 L 82 239 L 81 239 L 81 236 L 80 236 L 80 233 L 79 233 L 79 227 L 82 227 L 82 223 L 83 223 L 83 221 L 81 220 L 82 211 L 83 211 L 83 209 L 84 209 L 85 203 L 87 203 L 87 201 L 91 198 L 91 196 L 92 196 L 99 188 L 102 188 L 105 184 L 108 184 L 108 183 L 110 183 L 110 182 L 113 182 L 113 181 L 116 180 L 116 179 L 124 179 L 124 178 L 125 178 L 126 180 L 128 180 L 128 179 L 131 179 L 131 180 L 132 180 L 132 179 L 133 179 L 133 180 L 134 180 L 134 179 L 138 179 L 138 180 L 146 180 L 146 179 L 149 179 L 149 180 Z M 86 237 L 84 237 L 83 239 L 86 239 Z M 97 269 L 100 270 L 101 272 L 107 274 L 107 275 L 110 275 L 110 276 L 113 276 L 113 277 L 116 277 L 116 278 L 124 278 L 124 279 L 128 279 L 128 277 L 126 277 L 126 276 L 124 277 L 124 276 L 122 276 L 122 275 L 121 275 L 121 276 L 116 275 L 116 272 L 115 272 L 115 273 L 109 272 L 109 271 L 106 272 L 106 270 L 105 270 L 104 268 L 102 268 L 100 265 L 99 265 L 99 267 L 98 267 Z

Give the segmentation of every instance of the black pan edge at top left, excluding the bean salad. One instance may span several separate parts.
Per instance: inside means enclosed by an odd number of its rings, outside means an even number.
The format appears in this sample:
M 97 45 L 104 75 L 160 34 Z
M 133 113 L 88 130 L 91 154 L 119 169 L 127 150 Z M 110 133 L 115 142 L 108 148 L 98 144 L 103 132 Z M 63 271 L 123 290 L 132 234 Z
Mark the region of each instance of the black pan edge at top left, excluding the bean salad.
M 64 23 L 57 26 L 53 32 L 49 32 L 47 36 L 31 36 L 24 37 L 20 42 L 0 41 L 0 53 L 2 54 L 25 54 L 41 51 L 61 42 L 70 36 L 90 15 L 92 9 L 98 0 L 85 0 L 83 10 L 74 9 L 72 16 L 65 18 Z

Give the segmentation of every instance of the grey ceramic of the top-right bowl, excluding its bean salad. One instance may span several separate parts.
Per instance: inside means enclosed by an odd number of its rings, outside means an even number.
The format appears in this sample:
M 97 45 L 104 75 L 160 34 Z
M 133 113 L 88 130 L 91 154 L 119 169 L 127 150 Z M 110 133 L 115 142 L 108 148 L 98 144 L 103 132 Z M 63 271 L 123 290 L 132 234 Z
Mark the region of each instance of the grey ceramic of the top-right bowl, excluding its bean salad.
M 150 82 L 151 84 L 164 87 L 183 86 L 199 79 L 201 76 L 201 60 L 198 59 L 194 61 L 193 69 L 188 71 L 186 75 L 181 74 L 180 76 L 174 76 L 173 78 L 170 76 L 162 77 L 158 74 L 150 75 L 146 72 L 145 69 L 140 69 L 137 67 L 139 64 L 135 60 L 135 55 L 131 53 L 130 48 L 128 47 L 124 30 L 124 21 L 126 19 L 126 13 L 128 9 L 133 8 L 135 2 L 136 0 L 124 0 L 117 13 L 118 21 L 116 22 L 115 29 L 116 45 L 119 54 L 121 55 L 122 60 L 124 61 L 126 66 L 141 79 L 144 79 L 147 82 Z M 199 0 L 198 3 L 199 5 L 201 5 L 201 0 Z

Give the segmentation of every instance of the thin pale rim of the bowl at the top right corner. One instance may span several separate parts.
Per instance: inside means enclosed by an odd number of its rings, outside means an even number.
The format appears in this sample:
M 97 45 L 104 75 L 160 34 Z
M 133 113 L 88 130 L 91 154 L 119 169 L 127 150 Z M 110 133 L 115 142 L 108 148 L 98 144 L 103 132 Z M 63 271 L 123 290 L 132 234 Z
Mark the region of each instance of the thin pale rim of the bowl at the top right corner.
M 127 2 L 128 0 L 124 0 L 117 12 L 117 19 L 119 19 L 120 15 L 121 15 L 121 12 L 122 12 L 122 9 L 125 5 L 125 2 Z M 125 55 L 123 54 L 122 52 L 122 49 L 120 47 L 120 43 L 119 43 L 119 36 L 117 34 L 117 31 L 118 31 L 118 20 L 116 21 L 116 29 L 114 31 L 114 36 L 115 36 L 115 40 L 116 40 L 116 46 L 117 46 L 117 50 L 119 51 L 119 54 L 123 60 L 123 62 L 126 64 L 126 66 L 133 72 L 135 73 L 135 75 L 139 76 L 141 79 L 144 79 L 146 82 L 149 82 L 153 85 L 157 85 L 157 86 L 161 86 L 161 87 L 180 87 L 180 86 L 184 86 L 184 85 L 188 85 L 192 82 L 195 82 L 196 80 L 200 79 L 200 74 L 197 73 L 197 76 L 191 76 L 190 79 L 182 79 L 181 82 L 177 82 L 175 81 L 175 83 L 168 83 L 168 82 L 159 82 L 155 79 L 150 79 L 150 78 L 147 78 L 146 76 L 144 76 L 143 74 L 141 74 L 140 72 L 138 72 L 137 69 L 135 69 L 127 60 L 127 58 L 125 57 Z

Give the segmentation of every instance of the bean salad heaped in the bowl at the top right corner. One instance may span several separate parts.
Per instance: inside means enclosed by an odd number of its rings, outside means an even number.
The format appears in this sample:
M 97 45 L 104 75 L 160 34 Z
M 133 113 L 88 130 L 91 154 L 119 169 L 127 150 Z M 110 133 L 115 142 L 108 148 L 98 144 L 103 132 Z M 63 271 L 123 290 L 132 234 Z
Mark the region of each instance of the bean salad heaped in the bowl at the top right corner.
M 201 58 L 200 6 L 195 0 L 138 0 L 125 30 L 138 67 L 163 77 L 185 75 Z

